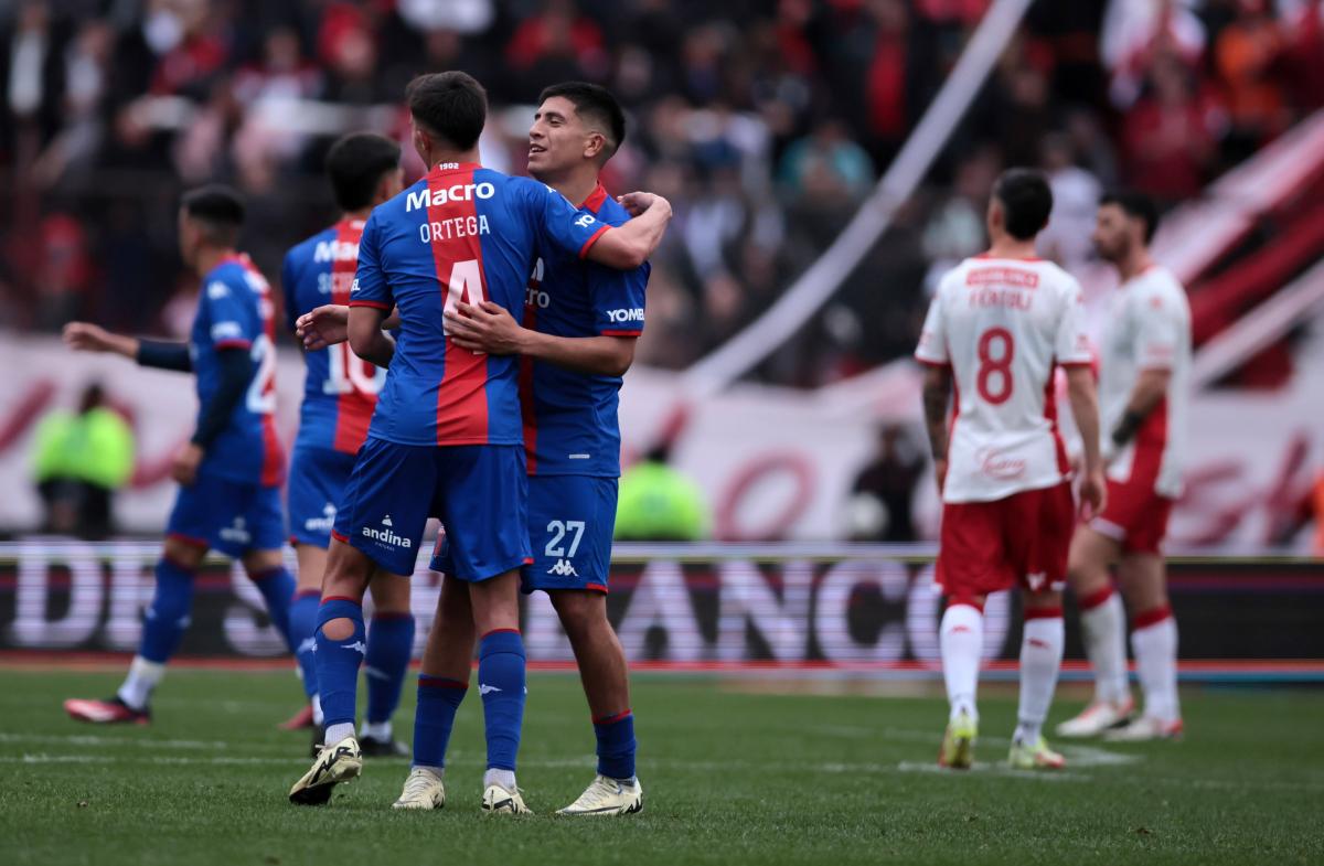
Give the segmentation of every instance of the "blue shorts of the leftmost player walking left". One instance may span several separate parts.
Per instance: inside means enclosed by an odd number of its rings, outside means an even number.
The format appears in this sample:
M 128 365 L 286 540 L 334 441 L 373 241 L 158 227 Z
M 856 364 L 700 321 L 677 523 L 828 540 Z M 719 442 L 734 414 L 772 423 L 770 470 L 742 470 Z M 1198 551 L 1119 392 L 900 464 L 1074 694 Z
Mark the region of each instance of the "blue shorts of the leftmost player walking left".
M 180 487 L 166 535 L 226 556 L 285 547 L 281 489 L 199 475 Z

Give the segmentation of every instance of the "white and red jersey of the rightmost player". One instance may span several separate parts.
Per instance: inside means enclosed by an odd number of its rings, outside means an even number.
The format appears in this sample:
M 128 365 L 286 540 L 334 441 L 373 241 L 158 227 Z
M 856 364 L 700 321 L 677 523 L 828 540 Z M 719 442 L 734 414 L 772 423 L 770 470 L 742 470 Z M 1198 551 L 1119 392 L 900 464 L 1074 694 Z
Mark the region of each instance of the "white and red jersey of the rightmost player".
M 1181 495 L 1186 417 L 1190 408 L 1190 305 L 1166 267 L 1151 266 L 1117 290 L 1103 335 L 1099 410 L 1104 441 L 1127 410 L 1141 371 L 1166 369 L 1168 396 L 1112 456 L 1108 478 L 1153 485 L 1160 497 Z

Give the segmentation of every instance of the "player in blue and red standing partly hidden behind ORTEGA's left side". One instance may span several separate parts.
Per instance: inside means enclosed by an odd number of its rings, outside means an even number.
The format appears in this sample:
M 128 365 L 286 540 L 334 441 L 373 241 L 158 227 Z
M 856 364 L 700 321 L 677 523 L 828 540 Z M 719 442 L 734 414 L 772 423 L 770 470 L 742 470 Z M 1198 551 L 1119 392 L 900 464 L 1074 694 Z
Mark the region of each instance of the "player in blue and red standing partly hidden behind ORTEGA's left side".
M 342 218 L 285 256 L 281 289 L 291 331 L 305 313 L 327 302 L 350 302 L 359 240 L 368 215 L 404 187 L 400 144 L 372 132 L 354 132 L 336 140 L 327 151 L 326 168 Z M 299 560 L 290 632 L 298 648 L 295 657 L 308 706 L 283 727 L 312 727 L 316 749 L 316 743 L 322 742 L 322 706 L 312 633 L 322 601 L 327 546 L 355 456 L 368 437 L 368 422 L 387 371 L 359 359 L 347 344 L 305 352 L 303 361 L 307 375 L 299 434 L 290 459 L 287 510 L 290 543 Z M 373 575 L 372 602 L 364 657 L 368 707 L 359 746 L 364 756 L 408 755 L 408 748 L 395 740 L 391 716 L 400 706 L 400 691 L 413 657 L 409 581 L 385 572 Z

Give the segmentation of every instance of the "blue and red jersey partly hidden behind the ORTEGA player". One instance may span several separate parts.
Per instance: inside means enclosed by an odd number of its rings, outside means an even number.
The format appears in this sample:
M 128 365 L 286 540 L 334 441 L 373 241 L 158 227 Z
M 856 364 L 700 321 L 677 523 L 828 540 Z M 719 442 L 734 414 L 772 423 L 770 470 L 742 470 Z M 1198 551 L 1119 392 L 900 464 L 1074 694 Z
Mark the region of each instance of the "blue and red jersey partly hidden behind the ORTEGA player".
M 363 220 L 340 220 L 286 253 L 281 287 L 291 331 L 305 313 L 324 303 L 350 303 L 363 228 Z M 303 363 L 303 405 L 295 448 L 356 454 L 368 437 L 368 422 L 387 371 L 355 355 L 348 343 L 305 352 Z

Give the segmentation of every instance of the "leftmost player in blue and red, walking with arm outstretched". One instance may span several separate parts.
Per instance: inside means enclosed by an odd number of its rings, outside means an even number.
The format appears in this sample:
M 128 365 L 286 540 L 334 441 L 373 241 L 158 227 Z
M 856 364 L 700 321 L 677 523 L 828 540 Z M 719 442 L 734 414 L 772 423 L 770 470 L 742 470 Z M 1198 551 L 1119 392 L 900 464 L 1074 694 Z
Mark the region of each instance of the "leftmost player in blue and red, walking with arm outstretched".
M 226 187 L 184 196 L 180 254 L 203 279 L 188 343 L 109 334 L 83 322 L 65 327 L 65 342 L 77 351 L 195 373 L 200 405 L 193 436 L 171 467 L 179 497 L 138 655 L 114 698 L 65 702 L 65 711 L 83 722 L 150 720 L 148 700 L 188 628 L 193 581 L 208 550 L 242 560 L 273 625 L 290 640 L 294 579 L 282 553 L 285 452 L 274 425 L 274 306 L 266 279 L 234 248 L 242 224 L 244 200 Z

